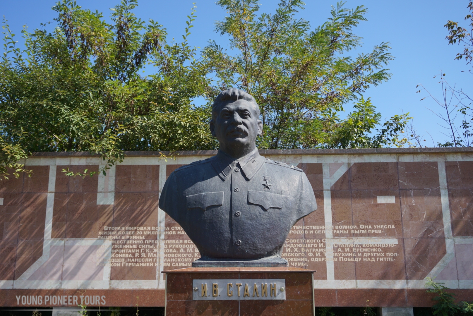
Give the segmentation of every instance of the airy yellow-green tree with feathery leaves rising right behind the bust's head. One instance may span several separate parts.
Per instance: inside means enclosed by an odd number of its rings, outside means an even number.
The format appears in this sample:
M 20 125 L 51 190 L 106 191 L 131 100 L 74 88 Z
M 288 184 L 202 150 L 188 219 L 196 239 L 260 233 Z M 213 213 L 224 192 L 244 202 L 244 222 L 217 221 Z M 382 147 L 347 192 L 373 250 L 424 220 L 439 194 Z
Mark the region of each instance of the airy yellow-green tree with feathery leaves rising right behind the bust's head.
M 339 2 L 332 17 L 310 31 L 309 22 L 296 19 L 301 0 L 281 0 L 274 14 L 258 16 L 258 0 L 219 0 L 228 17 L 217 23 L 220 35 L 230 36 L 227 52 L 215 41 L 202 55 L 217 79 L 216 96 L 238 87 L 255 97 L 264 124 L 260 148 L 357 148 L 400 146 L 399 133 L 407 114 L 380 122 L 375 107 L 361 98 L 347 120 L 337 115 L 370 86 L 390 78 L 383 68 L 393 59 L 388 43 L 356 58 L 344 53 L 360 46 L 352 28 L 366 21 L 366 8 L 349 10 Z M 233 52 L 238 53 L 234 54 Z

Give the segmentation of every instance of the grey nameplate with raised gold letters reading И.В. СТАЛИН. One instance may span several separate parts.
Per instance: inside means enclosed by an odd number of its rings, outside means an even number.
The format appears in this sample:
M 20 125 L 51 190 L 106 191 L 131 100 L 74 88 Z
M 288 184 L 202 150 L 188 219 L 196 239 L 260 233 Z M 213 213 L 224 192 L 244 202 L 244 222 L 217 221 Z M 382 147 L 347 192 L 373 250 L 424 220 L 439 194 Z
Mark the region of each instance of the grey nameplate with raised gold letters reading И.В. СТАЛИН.
M 193 280 L 193 300 L 286 299 L 284 279 Z

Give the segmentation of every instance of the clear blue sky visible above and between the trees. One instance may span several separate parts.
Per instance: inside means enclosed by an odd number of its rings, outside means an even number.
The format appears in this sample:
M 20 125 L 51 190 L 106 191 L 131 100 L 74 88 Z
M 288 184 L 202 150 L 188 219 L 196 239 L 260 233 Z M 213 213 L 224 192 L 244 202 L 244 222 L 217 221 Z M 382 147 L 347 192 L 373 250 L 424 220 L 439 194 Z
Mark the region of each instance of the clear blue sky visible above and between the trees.
M 189 42 L 193 46 L 203 47 L 210 39 L 215 39 L 221 45 L 228 43 L 228 38 L 220 37 L 214 32 L 216 20 L 225 17 L 225 10 L 215 5 L 212 0 L 139 0 L 135 14 L 142 19 L 153 18 L 164 25 L 168 38 L 181 39 L 184 33 L 186 16 L 197 5 L 197 19 L 194 22 Z M 118 0 L 78 0 L 83 8 L 98 9 L 105 17 L 110 14 Z M 43 22 L 54 22 L 55 12 L 51 10 L 54 0 L 14 0 L 2 1 L 0 15 L 9 21 L 10 28 L 18 35 L 23 25 L 30 30 L 39 27 Z M 262 0 L 261 11 L 273 12 L 276 0 Z M 371 97 L 377 110 L 383 118 L 389 118 L 401 112 L 410 112 L 414 117 L 414 127 L 424 135 L 426 145 L 433 145 L 429 134 L 435 143 L 442 142 L 446 137 L 438 125 L 440 120 L 427 108 L 441 111 L 433 100 L 426 97 L 425 92 L 416 94 L 416 85 L 423 84 L 434 95 L 441 96 L 438 78 L 433 78 L 440 72 L 446 73 L 446 79 L 451 84 L 472 91 L 473 76 L 462 70 L 468 70 L 464 61 L 455 61 L 455 54 L 462 51 L 461 46 L 447 45 L 444 27 L 447 20 L 463 22 L 467 14 L 467 0 L 348 0 L 346 8 L 364 5 L 368 8 L 367 22 L 362 22 L 354 29 L 356 35 L 363 37 L 363 47 L 358 52 L 368 53 L 372 47 L 381 42 L 390 42 L 394 61 L 388 65 L 393 74 L 392 79 L 376 88 L 369 88 L 364 94 Z M 336 1 L 306 0 L 306 7 L 298 13 L 298 17 L 310 21 L 312 28 L 324 23 L 330 16 L 330 6 Z M 465 25 L 465 23 L 463 23 Z M 53 24 L 49 26 L 52 28 Z M 20 40 L 21 41 L 21 40 Z M 357 52 L 350 55 L 356 56 Z M 473 94 L 473 91 L 472 91 Z M 351 106 L 346 105 L 347 112 Z

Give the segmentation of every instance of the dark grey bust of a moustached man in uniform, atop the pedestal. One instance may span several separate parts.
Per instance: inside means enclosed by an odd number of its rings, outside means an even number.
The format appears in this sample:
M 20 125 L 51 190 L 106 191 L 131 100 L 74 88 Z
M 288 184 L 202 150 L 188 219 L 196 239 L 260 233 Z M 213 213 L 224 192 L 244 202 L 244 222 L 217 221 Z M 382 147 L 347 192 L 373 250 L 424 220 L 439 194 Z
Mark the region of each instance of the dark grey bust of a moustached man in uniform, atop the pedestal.
M 212 105 L 216 156 L 176 169 L 159 207 L 201 253 L 194 267 L 287 266 L 280 257 L 290 228 L 315 211 L 304 172 L 259 155 L 263 123 L 252 96 L 228 89 Z

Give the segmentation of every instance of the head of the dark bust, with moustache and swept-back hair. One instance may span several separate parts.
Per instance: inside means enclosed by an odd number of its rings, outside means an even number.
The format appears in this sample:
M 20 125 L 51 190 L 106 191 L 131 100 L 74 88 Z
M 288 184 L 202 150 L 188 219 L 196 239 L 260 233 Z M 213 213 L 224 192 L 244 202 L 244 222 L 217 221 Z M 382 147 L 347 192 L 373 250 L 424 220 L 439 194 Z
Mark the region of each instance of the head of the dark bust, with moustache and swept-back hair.
M 263 132 L 259 117 L 260 109 L 254 97 L 230 88 L 213 102 L 210 132 L 219 140 L 220 150 L 237 159 L 256 147 L 256 137 Z

